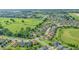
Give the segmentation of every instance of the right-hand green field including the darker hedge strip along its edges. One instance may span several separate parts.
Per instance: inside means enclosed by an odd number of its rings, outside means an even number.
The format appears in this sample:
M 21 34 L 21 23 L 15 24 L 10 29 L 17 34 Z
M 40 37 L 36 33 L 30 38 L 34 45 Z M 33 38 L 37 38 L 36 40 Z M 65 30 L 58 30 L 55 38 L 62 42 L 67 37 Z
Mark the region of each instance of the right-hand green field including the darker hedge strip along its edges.
M 79 48 L 79 29 L 67 28 L 58 29 L 55 36 L 57 41 L 60 41 L 66 47 Z

